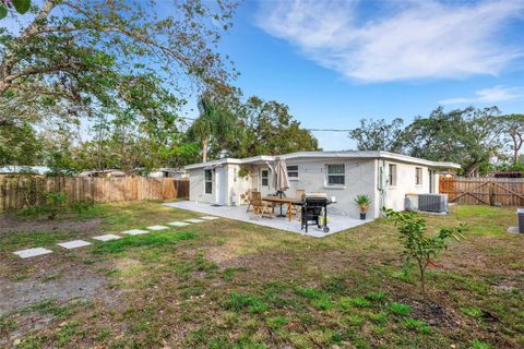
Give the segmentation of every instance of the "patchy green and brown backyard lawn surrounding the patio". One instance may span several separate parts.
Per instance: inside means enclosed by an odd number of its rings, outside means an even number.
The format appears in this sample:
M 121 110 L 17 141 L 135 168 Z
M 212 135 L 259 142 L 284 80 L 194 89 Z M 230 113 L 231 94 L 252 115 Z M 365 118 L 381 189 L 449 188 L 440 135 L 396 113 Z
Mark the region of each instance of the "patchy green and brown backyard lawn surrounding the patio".
M 505 232 L 514 212 L 428 216 L 433 230 L 469 229 L 430 270 L 427 303 L 384 219 L 324 239 L 219 219 L 61 251 L 53 243 L 199 215 L 99 205 L 32 232 L 10 218 L 21 229 L 0 230 L 0 347 L 522 348 L 524 237 Z M 57 252 L 11 254 L 35 245 Z

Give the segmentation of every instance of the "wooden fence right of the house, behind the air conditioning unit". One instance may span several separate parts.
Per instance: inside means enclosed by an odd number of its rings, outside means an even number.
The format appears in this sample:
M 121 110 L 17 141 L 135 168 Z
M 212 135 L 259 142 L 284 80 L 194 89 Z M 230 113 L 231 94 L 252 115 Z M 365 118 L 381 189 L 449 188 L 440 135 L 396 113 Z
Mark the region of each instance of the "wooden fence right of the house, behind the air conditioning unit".
M 439 190 L 452 203 L 467 205 L 524 206 L 522 178 L 441 177 Z

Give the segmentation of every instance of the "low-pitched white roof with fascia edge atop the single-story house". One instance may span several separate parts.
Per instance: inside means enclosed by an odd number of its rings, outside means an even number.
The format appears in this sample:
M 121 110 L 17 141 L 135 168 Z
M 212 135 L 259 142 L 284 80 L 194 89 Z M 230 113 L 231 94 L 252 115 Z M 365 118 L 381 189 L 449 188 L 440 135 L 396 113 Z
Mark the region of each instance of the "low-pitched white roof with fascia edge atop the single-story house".
M 343 152 L 297 152 L 290 154 L 284 154 L 281 156 L 271 156 L 271 155 L 259 155 L 253 157 L 247 157 L 243 159 L 237 158 L 224 158 L 212 160 L 207 163 L 200 163 L 186 166 L 187 170 L 198 169 L 198 168 L 215 168 L 228 164 L 234 165 L 252 165 L 257 163 L 274 161 L 276 158 L 283 157 L 284 159 L 384 159 L 384 160 L 395 160 L 401 163 L 417 164 L 424 165 L 433 168 L 461 168 L 461 165 L 446 161 L 431 161 L 426 159 L 416 158 L 413 156 L 381 152 L 381 151 L 343 151 Z

